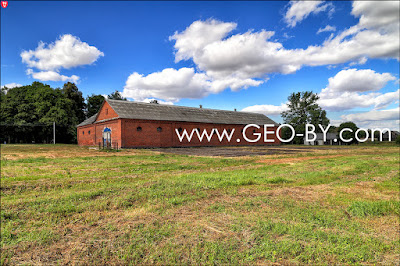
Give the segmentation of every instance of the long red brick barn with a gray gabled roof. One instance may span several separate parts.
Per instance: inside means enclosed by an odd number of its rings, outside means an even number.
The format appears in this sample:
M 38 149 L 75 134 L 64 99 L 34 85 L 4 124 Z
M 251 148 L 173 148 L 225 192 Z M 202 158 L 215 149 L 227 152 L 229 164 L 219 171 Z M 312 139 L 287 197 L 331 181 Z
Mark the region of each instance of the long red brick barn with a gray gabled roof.
M 133 147 L 189 147 L 189 146 L 237 146 L 237 145 L 271 145 L 280 144 L 276 134 L 268 134 L 273 142 L 265 143 L 263 135 L 257 142 L 249 143 L 243 138 L 243 129 L 247 124 L 256 124 L 260 129 L 251 127 L 246 130 L 249 139 L 256 139 L 254 133 L 264 132 L 263 125 L 273 124 L 268 131 L 276 131 L 278 124 L 262 114 L 193 108 L 175 105 L 138 103 L 130 101 L 106 100 L 99 112 L 77 126 L 78 144 L 94 146 L 112 143 L 123 148 Z M 211 133 L 213 129 L 222 134 L 233 131 L 229 142 L 222 141 L 214 134 L 211 141 L 206 138 L 200 141 L 193 134 L 180 141 L 180 135 L 186 130 L 188 134 L 198 129 Z M 234 129 L 234 130 L 233 130 Z

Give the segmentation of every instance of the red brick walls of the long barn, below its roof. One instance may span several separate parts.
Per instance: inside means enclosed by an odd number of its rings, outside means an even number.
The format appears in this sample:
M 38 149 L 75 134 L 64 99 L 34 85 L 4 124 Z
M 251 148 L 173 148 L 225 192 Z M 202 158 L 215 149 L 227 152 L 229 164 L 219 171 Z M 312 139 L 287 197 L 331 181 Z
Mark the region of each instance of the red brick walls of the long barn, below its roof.
M 273 143 L 265 143 L 262 137 L 257 142 L 247 142 L 243 139 L 242 125 L 220 125 L 220 124 L 205 124 L 205 123 L 189 123 L 189 122 L 172 122 L 172 121 L 152 121 L 152 120 L 136 120 L 136 119 L 116 119 L 97 124 L 87 125 L 78 128 L 78 144 L 79 145 L 95 145 L 102 143 L 103 131 L 108 127 L 111 129 L 111 141 L 117 142 L 119 147 L 133 148 L 133 147 L 193 147 L 193 146 L 238 146 L 238 145 L 276 145 L 280 141 L 275 137 L 275 134 L 269 135 L 268 139 L 274 139 Z M 160 128 L 158 130 L 158 128 Z M 175 132 L 175 129 L 182 128 L 190 134 L 192 129 L 199 129 L 200 133 L 204 129 L 208 133 L 213 128 L 219 130 L 220 134 L 225 130 L 233 130 L 234 133 L 230 142 L 224 138 L 222 142 L 219 141 L 216 134 L 213 135 L 210 142 L 204 137 L 200 142 L 196 133 L 191 142 L 185 138 L 182 142 Z M 90 130 L 90 134 L 88 131 Z M 246 131 L 246 136 L 249 139 L 256 138 L 253 136 L 255 133 L 263 133 L 264 128 L 260 129 L 249 128 Z M 275 131 L 276 128 L 268 128 L 269 131 Z M 83 133 L 85 132 L 85 133 Z M 181 133 L 182 134 L 182 133 Z M 240 139 L 240 142 L 237 142 Z

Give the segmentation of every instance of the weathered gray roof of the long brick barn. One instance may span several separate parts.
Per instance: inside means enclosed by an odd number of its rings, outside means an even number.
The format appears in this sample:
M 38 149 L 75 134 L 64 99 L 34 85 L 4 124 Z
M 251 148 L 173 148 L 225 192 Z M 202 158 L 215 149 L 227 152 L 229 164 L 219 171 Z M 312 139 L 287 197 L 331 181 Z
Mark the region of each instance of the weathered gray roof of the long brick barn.
M 274 124 L 278 125 L 263 114 L 224 111 L 206 108 L 194 108 L 167 104 L 139 103 L 131 101 L 107 100 L 120 118 L 199 122 L 213 124 Z M 78 126 L 91 124 L 91 118 Z

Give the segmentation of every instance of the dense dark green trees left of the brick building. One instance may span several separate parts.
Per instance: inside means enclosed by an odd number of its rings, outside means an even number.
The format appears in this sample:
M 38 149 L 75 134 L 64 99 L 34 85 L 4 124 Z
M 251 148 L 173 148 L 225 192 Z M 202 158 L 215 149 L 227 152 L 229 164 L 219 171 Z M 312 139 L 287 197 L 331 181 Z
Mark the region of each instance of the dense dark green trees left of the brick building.
M 118 91 L 109 99 L 126 100 Z M 104 97 L 92 94 L 86 99 L 76 84 L 52 88 L 33 82 L 15 88 L 3 87 L 0 92 L 1 143 L 52 143 L 53 122 L 56 141 L 76 143 L 76 125 L 96 114 Z

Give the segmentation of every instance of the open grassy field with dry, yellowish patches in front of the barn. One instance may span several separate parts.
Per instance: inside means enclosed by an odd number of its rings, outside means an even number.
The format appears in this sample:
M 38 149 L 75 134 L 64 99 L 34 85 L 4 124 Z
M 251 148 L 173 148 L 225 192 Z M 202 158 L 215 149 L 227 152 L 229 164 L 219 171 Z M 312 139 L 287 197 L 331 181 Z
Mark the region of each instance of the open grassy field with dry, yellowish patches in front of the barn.
M 1 264 L 398 263 L 399 146 L 235 149 L 2 145 Z

